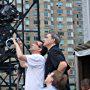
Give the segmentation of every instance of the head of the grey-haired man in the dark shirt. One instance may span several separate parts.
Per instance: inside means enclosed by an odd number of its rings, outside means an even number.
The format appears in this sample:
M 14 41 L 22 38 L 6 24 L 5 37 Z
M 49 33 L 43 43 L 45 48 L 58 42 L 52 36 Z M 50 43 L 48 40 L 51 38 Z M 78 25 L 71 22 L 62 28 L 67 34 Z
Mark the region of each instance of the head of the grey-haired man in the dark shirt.
M 44 46 L 51 47 L 53 45 L 59 45 L 60 38 L 57 34 L 49 33 L 45 36 Z

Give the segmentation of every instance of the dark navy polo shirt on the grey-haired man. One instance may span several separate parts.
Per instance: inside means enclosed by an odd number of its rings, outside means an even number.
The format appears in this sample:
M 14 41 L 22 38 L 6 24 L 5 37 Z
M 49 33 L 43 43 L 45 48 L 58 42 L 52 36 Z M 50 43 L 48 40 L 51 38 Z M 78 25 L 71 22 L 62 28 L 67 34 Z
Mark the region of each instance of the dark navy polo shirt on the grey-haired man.
M 54 45 L 48 51 L 48 56 L 47 56 L 47 60 L 45 63 L 45 78 L 47 77 L 47 75 L 49 73 L 53 72 L 54 70 L 57 70 L 59 63 L 62 61 L 66 62 L 64 54 L 62 53 L 62 50 L 59 48 L 58 45 Z M 68 65 L 64 74 L 67 74 L 67 70 L 69 70 L 69 69 L 70 69 L 70 67 Z M 69 90 L 68 85 L 67 85 L 67 90 Z

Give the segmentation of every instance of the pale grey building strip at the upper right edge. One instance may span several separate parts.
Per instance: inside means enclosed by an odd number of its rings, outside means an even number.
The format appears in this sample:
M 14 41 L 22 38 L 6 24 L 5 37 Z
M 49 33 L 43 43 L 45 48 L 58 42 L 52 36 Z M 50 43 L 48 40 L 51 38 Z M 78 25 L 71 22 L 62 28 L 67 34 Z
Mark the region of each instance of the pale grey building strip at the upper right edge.
M 90 1 L 82 0 L 84 43 L 90 40 Z

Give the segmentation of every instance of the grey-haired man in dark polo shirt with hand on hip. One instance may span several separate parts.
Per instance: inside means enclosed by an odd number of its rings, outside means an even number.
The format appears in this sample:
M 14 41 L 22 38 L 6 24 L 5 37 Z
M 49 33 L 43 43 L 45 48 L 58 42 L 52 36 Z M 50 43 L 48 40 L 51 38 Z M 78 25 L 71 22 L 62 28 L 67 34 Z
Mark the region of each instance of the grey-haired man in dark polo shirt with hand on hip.
M 48 56 L 45 63 L 45 78 L 54 70 L 60 72 L 60 74 L 67 74 L 69 66 L 65 60 L 62 50 L 59 48 L 60 38 L 57 34 L 49 33 L 45 36 L 44 46 L 48 48 Z M 70 90 L 68 80 L 66 84 L 66 90 Z

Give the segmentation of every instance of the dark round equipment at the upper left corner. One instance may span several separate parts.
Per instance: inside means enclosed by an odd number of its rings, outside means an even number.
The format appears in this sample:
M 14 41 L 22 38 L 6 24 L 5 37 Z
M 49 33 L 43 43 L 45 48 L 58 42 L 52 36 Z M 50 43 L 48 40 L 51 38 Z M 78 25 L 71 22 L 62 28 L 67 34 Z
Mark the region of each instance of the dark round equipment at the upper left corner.
M 18 10 L 11 3 L 0 5 L 0 23 L 10 23 L 18 16 Z

